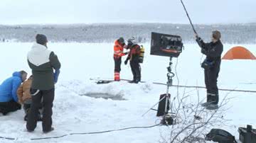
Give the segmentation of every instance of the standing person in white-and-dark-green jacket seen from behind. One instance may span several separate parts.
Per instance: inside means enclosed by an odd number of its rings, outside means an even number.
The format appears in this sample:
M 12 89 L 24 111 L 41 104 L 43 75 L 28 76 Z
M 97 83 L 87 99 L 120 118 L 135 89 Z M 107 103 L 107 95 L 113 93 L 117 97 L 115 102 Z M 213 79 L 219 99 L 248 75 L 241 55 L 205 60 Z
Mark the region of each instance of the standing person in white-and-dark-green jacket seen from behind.
M 32 69 L 33 81 L 31 84 L 31 110 L 28 112 L 26 129 L 33 132 L 36 128 L 38 110 L 43 106 L 43 132 L 53 131 L 53 99 L 55 94 L 54 84 L 58 81 L 60 62 L 54 52 L 48 50 L 46 35 L 36 35 L 36 43 L 28 52 L 28 65 Z M 55 72 L 53 72 L 53 69 Z

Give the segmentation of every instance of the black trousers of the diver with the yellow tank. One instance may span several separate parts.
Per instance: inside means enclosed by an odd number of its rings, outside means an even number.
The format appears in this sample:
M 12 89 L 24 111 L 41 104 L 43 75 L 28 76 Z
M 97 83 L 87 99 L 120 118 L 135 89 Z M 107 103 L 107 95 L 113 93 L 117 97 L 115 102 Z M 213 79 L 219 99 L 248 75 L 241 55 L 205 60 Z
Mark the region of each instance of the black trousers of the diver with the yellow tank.
M 130 62 L 130 66 L 132 69 L 132 74 L 133 74 L 133 81 L 141 81 L 142 75 L 141 75 L 141 67 L 139 65 L 139 61 L 137 60 L 132 60 Z

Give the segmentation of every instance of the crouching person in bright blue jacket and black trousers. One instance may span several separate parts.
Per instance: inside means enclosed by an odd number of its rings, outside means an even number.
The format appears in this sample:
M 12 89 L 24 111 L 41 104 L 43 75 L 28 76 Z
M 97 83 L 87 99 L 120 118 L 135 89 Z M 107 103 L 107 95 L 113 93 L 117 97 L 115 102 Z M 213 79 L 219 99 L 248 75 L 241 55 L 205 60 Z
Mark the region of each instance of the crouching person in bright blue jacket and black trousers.
M 0 113 L 3 115 L 21 109 L 17 90 L 27 75 L 26 71 L 16 71 L 0 85 Z

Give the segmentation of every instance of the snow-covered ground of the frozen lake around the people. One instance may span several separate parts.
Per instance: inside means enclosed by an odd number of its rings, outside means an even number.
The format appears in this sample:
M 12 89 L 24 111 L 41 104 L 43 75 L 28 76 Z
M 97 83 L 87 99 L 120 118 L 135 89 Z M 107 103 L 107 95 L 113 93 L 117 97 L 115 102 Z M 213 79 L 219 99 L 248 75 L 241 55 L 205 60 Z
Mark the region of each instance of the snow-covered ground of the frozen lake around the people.
M 11 76 L 13 71 L 25 69 L 31 72 L 26 62 L 26 53 L 32 43 L 0 43 L 0 82 Z M 225 45 L 225 52 L 234 45 Z M 256 55 L 256 45 L 242 45 Z M 0 115 L 0 136 L 14 137 L 15 141 L 0 139 L 0 142 L 129 142 L 153 143 L 168 139 L 171 128 L 154 127 L 150 129 L 134 129 L 120 132 L 110 132 L 98 135 L 73 135 L 60 139 L 31 141 L 31 138 L 51 137 L 75 132 L 97 132 L 102 130 L 119 129 L 123 127 L 149 126 L 159 122 L 156 112 L 150 111 L 159 100 L 159 95 L 166 92 L 165 86 L 152 84 L 153 81 L 166 83 L 166 67 L 168 57 L 149 55 L 149 44 L 144 44 L 146 55 L 142 64 L 142 81 L 144 84 L 128 84 L 126 81 L 97 85 L 90 78 L 100 77 L 112 79 L 114 61 L 112 59 L 112 43 L 49 43 L 48 48 L 58 55 L 62 63 L 60 78 L 55 89 L 53 108 L 53 127 L 55 130 L 47 135 L 42 133 L 41 122 L 33 133 L 26 132 L 26 122 L 23 121 L 23 110 Z M 200 49 L 196 44 L 185 45 L 185 50 L 174 59 L 176 78 L 174 84 L 188 86 L 204 86 L 203 69 L 200 63 L 203 60 Z M 177 64 L 177 66 L 176 66 Z M 222 62 L 218 85 L 220 88 L 244 89 L 256 91 L 256 62 L 250 60 L 232 60 Z M 176 68 L 175 68 L 176 67 Z M 177 79 L 178 77 L 178 79 Z M 132 79 L 129 65 L 122 65 L 122 79 Z M 178 83 L 179 81 L 179 83 Z M 179 88 L 179 96 L 183 91 L 191 95 L 187 102 L 195 102 L 197 92 L 201 100 L 206 98 L 205 89 Z M 171 95 L 176 96 L 177 89 L 171 88 Z M 220 91 L 220 101 L 228 94 Z M 117 96 L 124 100 L 117 101 L 89 96 Z M 232 133 L 238 138 L 238 127 L 247 124 L 256 128 L 255 101 L 256 93 L 232 92 L 232 98 L 226 105 L 230 108 L 223 117 L 229 120 L 226 126 L 218 127 Z

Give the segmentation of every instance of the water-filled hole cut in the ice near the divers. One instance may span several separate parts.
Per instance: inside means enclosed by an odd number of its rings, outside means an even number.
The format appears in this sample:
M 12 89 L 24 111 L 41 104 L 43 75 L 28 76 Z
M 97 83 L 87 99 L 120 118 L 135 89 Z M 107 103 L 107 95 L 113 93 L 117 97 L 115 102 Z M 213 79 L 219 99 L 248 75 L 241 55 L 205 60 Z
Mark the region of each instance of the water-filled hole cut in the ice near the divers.
M 81 94 L 80 96 L 88 96 L 92 98 L 104 98 L 104 99 L 112 99 L 113 101 L 125 101 L 126 99 L 123 98 L 121 94 L 109 94 L 109 93 L 85 93 Z

